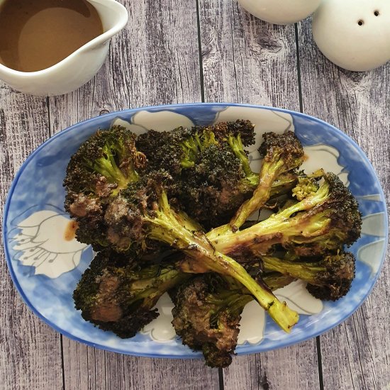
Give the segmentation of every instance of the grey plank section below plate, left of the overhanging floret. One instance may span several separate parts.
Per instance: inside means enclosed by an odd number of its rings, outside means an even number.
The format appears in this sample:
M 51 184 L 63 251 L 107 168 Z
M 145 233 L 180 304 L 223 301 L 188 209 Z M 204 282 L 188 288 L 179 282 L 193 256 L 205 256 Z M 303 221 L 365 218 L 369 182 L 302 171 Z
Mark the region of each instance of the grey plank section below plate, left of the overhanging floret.
M 65 389 L 218 389 L 218 371 L 205 369 L 202 360 L 129 357 L 67 338 L 63 345 Z

